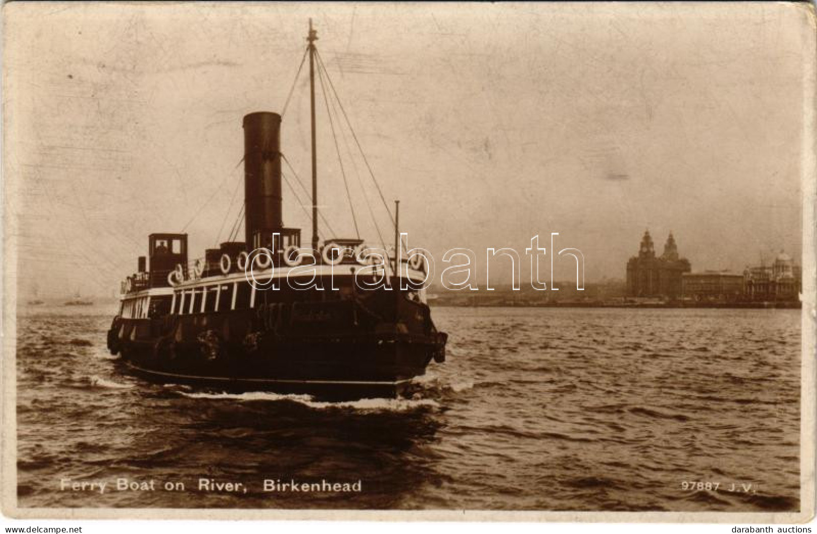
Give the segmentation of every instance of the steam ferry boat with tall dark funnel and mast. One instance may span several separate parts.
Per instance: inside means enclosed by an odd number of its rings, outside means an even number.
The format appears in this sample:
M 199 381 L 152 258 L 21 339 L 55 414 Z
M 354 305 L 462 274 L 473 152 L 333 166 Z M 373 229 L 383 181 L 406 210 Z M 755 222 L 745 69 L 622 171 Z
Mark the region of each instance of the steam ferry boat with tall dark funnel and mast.
M 301 229 L 283 225 L 281 116 L 249 113 L 244 241 L 225 241 L 191 261 L 187 234 L 150 234 L 107 336 L 130 371 L 221 390 L 366 398 L 406 394 L 432 360 L 444 362 L 447 335 L 426 304 L 426 261 L 405 250 L 399 203 L 393 216 L 386 206 L 391 250 L 359 237 L 319 236 L 316 61 L 319 76 L 328 73 L 316 39 L 310 20 L 301 60 L 309 56 L 310 246 L 301 247 Z

